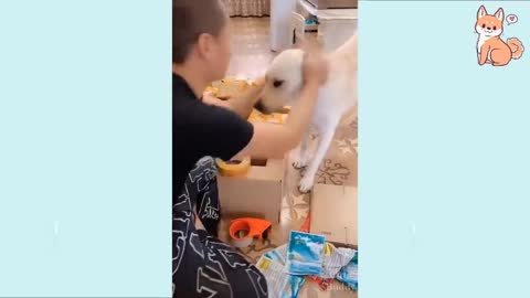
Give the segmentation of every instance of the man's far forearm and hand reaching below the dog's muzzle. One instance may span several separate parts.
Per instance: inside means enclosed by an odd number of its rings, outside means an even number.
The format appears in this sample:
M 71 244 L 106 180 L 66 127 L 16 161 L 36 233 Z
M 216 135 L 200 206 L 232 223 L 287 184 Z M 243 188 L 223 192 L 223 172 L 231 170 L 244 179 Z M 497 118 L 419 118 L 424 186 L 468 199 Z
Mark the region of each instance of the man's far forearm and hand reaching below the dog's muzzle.
M 220 106 L 229 108 L 242 118 L 246 119 L 251 115 L 256 102 L 259 99 L 259 93 L 263 91 L 265 84 L 264 78 L 256 79 L 254 86 L 241 96 L 231 98 L 229 100 L 221 100 L 213 95 L 206 94 L 203 96 L 203 102 L 208 105 Z

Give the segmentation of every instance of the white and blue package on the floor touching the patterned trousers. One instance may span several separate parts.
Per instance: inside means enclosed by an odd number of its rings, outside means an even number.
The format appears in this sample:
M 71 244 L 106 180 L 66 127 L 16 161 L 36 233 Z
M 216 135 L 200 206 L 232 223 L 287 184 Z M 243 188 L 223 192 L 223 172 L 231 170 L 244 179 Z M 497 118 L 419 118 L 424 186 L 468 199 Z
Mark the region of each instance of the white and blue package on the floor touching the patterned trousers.
M 267 280 L 269 298 L 296 298 L 306 279 L 288 275 L 284 265 L 263 255 L 256 264 Z

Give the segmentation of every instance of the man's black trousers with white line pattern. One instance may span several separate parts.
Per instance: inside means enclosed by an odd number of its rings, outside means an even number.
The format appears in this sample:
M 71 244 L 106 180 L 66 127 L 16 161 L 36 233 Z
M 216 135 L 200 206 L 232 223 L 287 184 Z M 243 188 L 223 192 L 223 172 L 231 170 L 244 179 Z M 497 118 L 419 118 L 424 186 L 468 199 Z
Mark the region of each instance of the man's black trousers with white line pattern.
M 201 159 L 173 202 L 173 298 L 262 298 L 267 283 L 259 270 L 216 235 L 220 203 L 213 158 Z M 194 225 L 195 212 L 204 230 Z

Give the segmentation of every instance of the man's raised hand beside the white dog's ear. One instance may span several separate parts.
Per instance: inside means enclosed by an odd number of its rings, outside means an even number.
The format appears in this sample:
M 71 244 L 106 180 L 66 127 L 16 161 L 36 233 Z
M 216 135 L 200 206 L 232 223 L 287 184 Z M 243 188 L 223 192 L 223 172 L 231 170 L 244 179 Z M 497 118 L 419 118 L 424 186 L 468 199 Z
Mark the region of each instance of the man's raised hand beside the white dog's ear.
M 328 81 L 329 62 L 316 45 L 305 45 L 303 63 L 304 84 L 321 86 Z

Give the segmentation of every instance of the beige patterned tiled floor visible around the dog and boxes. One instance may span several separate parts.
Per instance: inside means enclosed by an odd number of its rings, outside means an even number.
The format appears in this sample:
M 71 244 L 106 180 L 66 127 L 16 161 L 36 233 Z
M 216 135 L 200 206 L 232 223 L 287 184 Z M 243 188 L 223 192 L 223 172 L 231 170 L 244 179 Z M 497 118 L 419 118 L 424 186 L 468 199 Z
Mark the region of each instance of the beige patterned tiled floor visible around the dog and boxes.
M 231 26 L 233 56 L 229 75 L 252 78 L 263 75 L 275 56 L 269 50 L 269 19 L 233 18 Z M 320 166 L 317 183 L 357 185 L 357 114 L 351 113 L 337 129 L 335 141 Z M 299 179 L 299 171 L 288 167 L 284 180 L 282 223 L 273 227 L 271 241 L 263 244 L 256 242 L 251 248 L 241 251 L 250 260 L 256 262 L 263 253 L 285 244 L 289 232 L 299 228 L 304 223 L 309 212 L 310 194 L 298 192 Z M 226 223 L 223 221 L 223 225 Z M 227 230 L 226 227 L 224 226 L 222 231 Z M 349 291 L 340 285 L 336 290 L 325 292 L 315 283 L 308 281 L 300 297 L 357 297 L 357 292 Z

